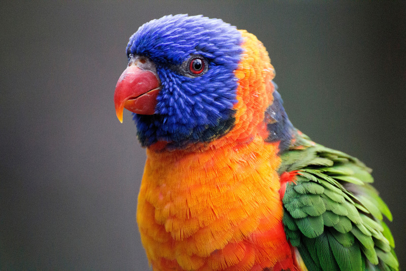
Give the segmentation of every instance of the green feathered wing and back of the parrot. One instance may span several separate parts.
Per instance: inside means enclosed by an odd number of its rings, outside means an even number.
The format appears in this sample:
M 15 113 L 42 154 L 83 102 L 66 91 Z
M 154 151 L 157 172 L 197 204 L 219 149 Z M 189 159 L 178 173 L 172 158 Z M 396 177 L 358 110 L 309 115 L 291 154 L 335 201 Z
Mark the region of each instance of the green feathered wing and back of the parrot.
M 283 197 L 286 236 L 309 270 L 398 270 L 392 215 L 370 169 L 297 133 L 279 174 L 299 170 Z

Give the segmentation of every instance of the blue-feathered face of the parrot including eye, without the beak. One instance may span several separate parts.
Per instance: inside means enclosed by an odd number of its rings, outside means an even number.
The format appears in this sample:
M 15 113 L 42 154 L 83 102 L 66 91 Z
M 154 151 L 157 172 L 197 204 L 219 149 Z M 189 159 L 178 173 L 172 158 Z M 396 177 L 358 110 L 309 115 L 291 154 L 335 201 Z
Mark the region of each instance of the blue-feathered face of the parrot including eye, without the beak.
M 201 16 L 165 16 L 131 36 L 127 55 L 144 55 L 161 81 L 156 114 L 134 114 L 143 146 L 183 148 L 232 129 L 242 37 L 233 26 Z

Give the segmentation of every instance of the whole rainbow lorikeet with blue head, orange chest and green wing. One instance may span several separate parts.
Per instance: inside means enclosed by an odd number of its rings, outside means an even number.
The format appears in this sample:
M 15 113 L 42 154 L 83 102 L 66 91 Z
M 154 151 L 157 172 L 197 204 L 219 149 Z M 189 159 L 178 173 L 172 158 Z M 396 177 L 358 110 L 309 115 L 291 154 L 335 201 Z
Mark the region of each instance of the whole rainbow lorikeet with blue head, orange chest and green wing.
M 170 15 L 126 52 L 114 102 L 147 148 L 137 222 L 153 270 L 398 270 L 370 169 L 292 126 L 254 35 Z

